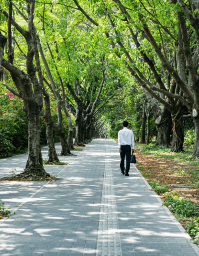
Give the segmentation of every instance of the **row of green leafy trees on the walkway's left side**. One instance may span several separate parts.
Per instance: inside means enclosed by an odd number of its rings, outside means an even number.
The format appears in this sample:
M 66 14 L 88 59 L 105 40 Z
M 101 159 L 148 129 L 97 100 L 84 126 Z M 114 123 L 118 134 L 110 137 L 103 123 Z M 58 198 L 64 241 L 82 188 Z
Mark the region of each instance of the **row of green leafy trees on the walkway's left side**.
M 114 95 L 108 88 L 117 87 L 102 43 L 94 47 L 90 25 L 78 20 L 64 4 L 26 0 L 0 6 L 0 78 L 6 89 L 22 98 L 28 122 L 29 155 L 23 176 L 49 176 L 42 163 L 40 116 L 46 122 L 49 161 L 58 161 L 52 130 L 60 138 L 61 155 L 71 154 L 72 113 L 75 144 L 84 146 L 103 126 L 99 112 Z M 57 122 L 51 115 L 49 92 L 56 99 Z

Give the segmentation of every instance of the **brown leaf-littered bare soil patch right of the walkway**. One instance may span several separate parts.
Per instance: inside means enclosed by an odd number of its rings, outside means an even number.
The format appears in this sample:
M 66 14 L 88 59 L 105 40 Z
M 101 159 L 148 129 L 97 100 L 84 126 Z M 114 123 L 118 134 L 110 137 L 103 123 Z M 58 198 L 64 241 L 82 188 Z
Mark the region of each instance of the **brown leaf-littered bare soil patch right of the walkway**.
M 190 171 L 198 171 L 198 166 L 188 166 L 186 163 L 178 163 L 173 159 L 160 158 L 151 155 L 147 155 L 144 152 L 140 152 L 140 148 L 135 148 L 135 155 L 137 164 L 136 167 L 141 171 L 144 178 L 149 181 L 154 179 L 167 185 L 181 185 L 191 186 L 193 178 L 190 177 Z M 169 191 L 178 191 L 179 195 L 183 195 L 192 202 L 199 203 L 199 190 L 198 189 L 183 189 L 172 188 Z M 161 195 L 161 193 L 157 193 Z

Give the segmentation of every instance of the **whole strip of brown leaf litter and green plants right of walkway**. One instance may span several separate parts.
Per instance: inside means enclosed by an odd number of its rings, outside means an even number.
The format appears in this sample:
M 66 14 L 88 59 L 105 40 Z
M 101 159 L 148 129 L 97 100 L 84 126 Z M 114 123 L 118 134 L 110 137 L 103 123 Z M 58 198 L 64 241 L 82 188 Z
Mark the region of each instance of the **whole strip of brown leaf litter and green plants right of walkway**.
M 137 143 L 135 155 L 137 169 L 199 244 L 199 161 L 189 158 L 192 150 L 176 153 L 166 146 Z

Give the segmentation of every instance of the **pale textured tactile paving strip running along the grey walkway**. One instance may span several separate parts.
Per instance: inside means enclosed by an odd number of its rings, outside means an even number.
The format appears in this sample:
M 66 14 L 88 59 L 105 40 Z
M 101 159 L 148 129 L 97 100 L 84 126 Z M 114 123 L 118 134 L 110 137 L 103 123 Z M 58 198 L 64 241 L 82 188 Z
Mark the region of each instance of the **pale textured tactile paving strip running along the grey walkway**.
M 99 218 L 96 256 L 122 256 L 117 220 L 117 207 L 111 169 L 111 158 L 106 143 L 105 171 Z

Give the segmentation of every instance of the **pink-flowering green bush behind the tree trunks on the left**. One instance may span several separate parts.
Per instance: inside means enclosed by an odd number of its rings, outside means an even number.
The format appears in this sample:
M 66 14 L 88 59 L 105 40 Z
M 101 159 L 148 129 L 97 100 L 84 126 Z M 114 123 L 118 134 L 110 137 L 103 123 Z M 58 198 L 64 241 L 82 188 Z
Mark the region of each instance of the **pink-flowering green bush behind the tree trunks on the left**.
M 51 114 L 57 123 L 56 99 L 50 95 Z M 23 111 L 23 101 L 9 91 L 0 94 L 0 157 L 9 156 L 16 150 L 28 147 L 28 122 Z M 44 110 L 44 108 L 43 108 Z M 63 113 L 63 130 L 68 136 L 68 122 Z M 40 143 L 46 144 L 46 121 L 41 120 Z M 75 122 L 73 116 L 73 123 Z M 54 142 L 59 142 L 58 135 L 53 131 Z M 73 132 L 75 136 L 75 129 Z

